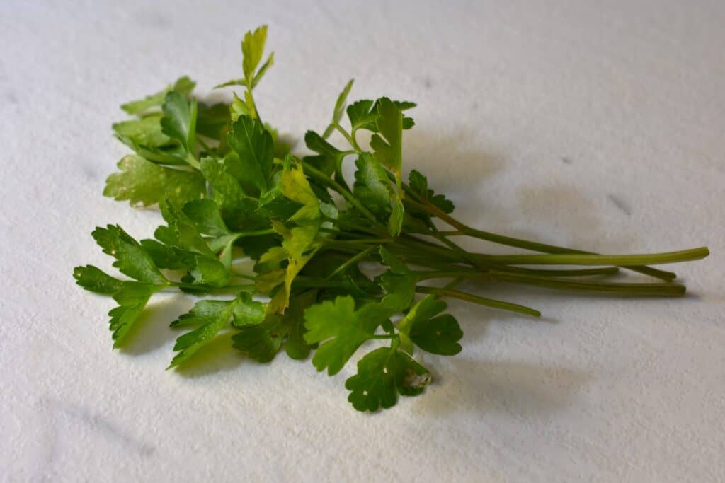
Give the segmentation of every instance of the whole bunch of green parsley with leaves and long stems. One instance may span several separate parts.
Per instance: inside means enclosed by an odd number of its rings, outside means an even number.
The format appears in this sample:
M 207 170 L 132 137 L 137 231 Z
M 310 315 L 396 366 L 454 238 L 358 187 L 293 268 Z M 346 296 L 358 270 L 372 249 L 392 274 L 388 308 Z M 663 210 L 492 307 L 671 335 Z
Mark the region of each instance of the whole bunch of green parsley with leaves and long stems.
M 456 290 L 462 282 L 682 295 L 684 286 L 671 282 L 674 273 L 645 265 L 708 255 L 707 248 L 695 248 L 603 256 L 468 227 L 451 216 L 453 203 L 434 193 L 420 172 L 403 180 L 402 138 L 414 125 L 406 113 L 415 104 L 381 97 L 346 107 L 352 80 L 323 134 L 305 134 L 315 155 L 295 156 L 262 122 L 253 96 L 274 61 L 270 54 L 262 62 L 266 38 L 266 27 L 244 35 L 244 77 L 218 86 L 244 89 L 229 104 L 197 101 L 194 82 L 182 77 L 122 106 L 133 118 L 113 129 L 135 154 L 121 159 L 104 195 L 132 205 L 157 204 L 165 224 L 153 239 L 140 242 L 117 225 L 93 232 L 113 265 L 133 280 L 90 265 L 74 271 L 80 286 L 116 301 L 109 312 L 114 347 L 126 342 L 154 293 L 183 290 L 202 299 L 171 324 L 187 332 L 176 341 L 170 367 L 231 333 L 233 347 L 257 361 L 271 361 L 282 348 L 296 359 L 314 351 L 312 364 L 332 375 L 361 345 L 378 340 L 383 345 L 361 358 L 357 374 L 345 383 L 352 406 L 375 411 L 393 406 L 399 394 L 420 394 L 431 382 L 413 358 L 416 350 L 443 356 L 461 350 L 463 332 L 445 313 L 443 298 L 539 316 L 532 308 Z M 334 131 L 348 146 L 326 140 Z M 369 135 L 370 149 L 359 143 L 363 135 Z M 341 169 L 347 160 L 357 168 L 353 180 Z M 435 219 L 451 230 L 439 230 Z M 463 235 L 543 254 L 465 251 L 454 241 Z M 253 273 L 239 269 L 242 259 L 254 261 Z M 531 268 L 540 265 L 596 268 Z M 378 276 L 370 276 L 370 266 L 378 267 Z M 618 267 L 663 282 L 602 280 Z M 433 279 L 449 282 L 421 283 Z

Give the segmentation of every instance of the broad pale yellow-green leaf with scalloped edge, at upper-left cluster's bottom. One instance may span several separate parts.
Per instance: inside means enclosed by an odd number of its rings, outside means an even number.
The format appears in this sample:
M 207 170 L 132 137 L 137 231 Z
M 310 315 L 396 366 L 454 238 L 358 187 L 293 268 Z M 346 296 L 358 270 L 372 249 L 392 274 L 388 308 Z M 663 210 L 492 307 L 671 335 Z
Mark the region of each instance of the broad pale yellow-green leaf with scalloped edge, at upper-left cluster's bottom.
M 158 166 L 136 155 L 125 156 L 117 166 L 120 172 L 108 177 L 103 194 L 128 200 L 132 206 L 149 206 L 165 198 L 183 204 L 202 198 L 207 190 L 198 171 Z

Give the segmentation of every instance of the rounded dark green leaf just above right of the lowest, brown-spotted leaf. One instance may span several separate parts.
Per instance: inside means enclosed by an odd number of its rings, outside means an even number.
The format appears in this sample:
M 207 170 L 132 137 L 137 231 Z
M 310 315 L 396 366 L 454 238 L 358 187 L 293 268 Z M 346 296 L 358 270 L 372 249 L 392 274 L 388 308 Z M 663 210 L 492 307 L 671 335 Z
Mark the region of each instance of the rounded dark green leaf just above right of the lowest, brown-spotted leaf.
M 457 320 L 450 314 L 438 316 L 448 304 L 434 295 L 427 295 L 416 303 L 398 324 L 401 345 L 408 353 L 413 343 L 419 348 L 441 356 L 453 356 L 460 352 L 458 341 L 463 332 Z

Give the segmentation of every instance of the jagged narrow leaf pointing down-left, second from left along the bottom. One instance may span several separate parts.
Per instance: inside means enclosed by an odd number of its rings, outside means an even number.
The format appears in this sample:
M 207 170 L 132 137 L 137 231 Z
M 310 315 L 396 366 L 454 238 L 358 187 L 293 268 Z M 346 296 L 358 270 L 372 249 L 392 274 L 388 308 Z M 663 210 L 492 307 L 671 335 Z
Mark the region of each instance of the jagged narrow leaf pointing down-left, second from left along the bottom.
M 199 301 L 194 304 L 186 316 L 181 316 L 178 325 L 201 324 L 191 332 L 187 332 L 176 340 L 174 350 L 179 353 L 171 361 L 168 369 L 181 366 L 198 352 L 199 349 L 210 343 L 210 341 L 228 326 L 234 311 L 239 305 L 252 303 L 252 298 L 247 293 L 240 293 L 231 301 Z M 256 303 L 256 302 L 255 302 Z M 183 322 L 182 322 L 183 321 Z

